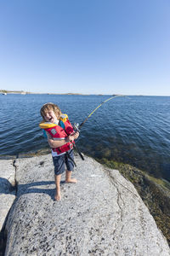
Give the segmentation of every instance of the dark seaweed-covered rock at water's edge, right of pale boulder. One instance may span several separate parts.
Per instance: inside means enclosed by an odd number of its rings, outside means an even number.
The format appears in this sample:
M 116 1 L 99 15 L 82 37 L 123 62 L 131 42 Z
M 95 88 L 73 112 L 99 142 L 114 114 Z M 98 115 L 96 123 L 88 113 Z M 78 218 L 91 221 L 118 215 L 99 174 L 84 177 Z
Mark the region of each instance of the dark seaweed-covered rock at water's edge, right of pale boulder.
M 100 159 L 101 164 L 119 170 L 122 176 L 133 183 L 157 226 L 166 236 L 170 246 L 170 186 L 167 181 L 149 176 L 134 166 Z

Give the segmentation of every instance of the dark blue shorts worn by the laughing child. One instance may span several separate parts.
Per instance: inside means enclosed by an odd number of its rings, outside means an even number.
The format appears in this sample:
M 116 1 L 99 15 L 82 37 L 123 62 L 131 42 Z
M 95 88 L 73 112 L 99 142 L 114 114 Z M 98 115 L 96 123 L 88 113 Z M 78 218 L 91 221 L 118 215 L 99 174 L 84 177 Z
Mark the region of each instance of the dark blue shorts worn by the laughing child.
M 65 172 L 65 166 L 68 171 L 73 171 L 74 169 L 74 153 L 73 150 L 67 151 L 69 154 L 69 157 L 66 156 L 66 154 L 61 154 L 59 156 L 54 156 L 54 173 L 55 175 L 59 175 L 63 172 Z

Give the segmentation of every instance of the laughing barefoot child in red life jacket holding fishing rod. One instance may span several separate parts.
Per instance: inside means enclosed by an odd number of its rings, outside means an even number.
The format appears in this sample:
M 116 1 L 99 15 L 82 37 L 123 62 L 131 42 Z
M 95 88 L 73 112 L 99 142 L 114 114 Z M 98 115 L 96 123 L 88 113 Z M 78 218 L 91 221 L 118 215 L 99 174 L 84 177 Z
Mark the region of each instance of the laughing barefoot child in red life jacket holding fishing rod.
M 46 131 L 48 144 L 52 148 L 54 161 L 54 179 L 56 185 L 56 194 L 54 199 L 60 201 L 60 179 L 61 174 L 65 172 L 65 183 L 77 183 L 76 178 L 71 178 L 74 168 L 73 145 L 74 140 L 79 136 L 74 132 L 72 125 L 66 114 L 62 114 L 59 107 L 54 103 L 46 103 L 42 106 L 40 113 L 42 122 L 40 127 Z

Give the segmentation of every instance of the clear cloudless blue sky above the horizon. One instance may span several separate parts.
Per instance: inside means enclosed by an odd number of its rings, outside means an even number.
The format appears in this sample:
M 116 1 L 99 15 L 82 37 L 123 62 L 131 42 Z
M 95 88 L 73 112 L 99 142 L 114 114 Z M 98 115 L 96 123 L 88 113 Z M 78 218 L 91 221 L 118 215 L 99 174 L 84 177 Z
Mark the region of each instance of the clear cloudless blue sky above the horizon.
M 169 0 L 0 1 L 0 89 L 170 96 Z

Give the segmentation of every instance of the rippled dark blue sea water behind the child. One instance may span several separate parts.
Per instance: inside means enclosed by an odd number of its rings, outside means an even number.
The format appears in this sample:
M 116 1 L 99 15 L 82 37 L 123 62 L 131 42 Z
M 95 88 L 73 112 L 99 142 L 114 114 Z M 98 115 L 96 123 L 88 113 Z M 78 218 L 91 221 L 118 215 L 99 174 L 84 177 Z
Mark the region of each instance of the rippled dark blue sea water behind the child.
M 71 123 L 82 123 L 111 96 L 0 95 L 0 154 L 27 154 L 48 148 L 38 127 L 40 108 L 59 105 Z M 170 180 L 170 97 L 123 96 L 103 104 L 82 126 L 77 146 L 92 157 L 127 163 Z

